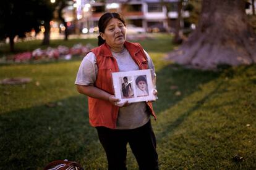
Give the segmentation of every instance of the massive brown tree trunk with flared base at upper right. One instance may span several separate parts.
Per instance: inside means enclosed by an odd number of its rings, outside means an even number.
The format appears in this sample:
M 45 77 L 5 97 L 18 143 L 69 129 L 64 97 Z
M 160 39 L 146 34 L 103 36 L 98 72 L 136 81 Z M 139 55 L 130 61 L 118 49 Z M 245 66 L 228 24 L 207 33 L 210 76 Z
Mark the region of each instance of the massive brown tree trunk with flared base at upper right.
M 203 69 L 255 63 L 256 37 L 247 23 L 245 1 L 203 0 L 197 29 L 169 59 Z

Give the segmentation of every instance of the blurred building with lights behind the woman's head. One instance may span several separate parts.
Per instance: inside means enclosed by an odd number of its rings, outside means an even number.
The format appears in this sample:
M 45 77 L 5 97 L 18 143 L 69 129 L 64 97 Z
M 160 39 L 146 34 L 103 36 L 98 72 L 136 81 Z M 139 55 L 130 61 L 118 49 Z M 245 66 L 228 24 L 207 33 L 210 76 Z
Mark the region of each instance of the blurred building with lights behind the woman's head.
M 127 25 L 148 31 L 172 29 L 178 17 L 179 0 L 106 0 L 100 2 L 75 0 L 74 2 L 73 7 L 69 9 L 76 10 L 76 17 L 66 18 L 72 18 L 72 22 L 79 25 L 83 33 L 98 31 L 98 20 L 105 12 L 119 12 L 126 18 Z M 66 12 L 74 14 L 74 12 Z M 182 11 L 182 17 L 189 17 L 189 12 Z M 156 30 L 150 28 L 156 28 Z

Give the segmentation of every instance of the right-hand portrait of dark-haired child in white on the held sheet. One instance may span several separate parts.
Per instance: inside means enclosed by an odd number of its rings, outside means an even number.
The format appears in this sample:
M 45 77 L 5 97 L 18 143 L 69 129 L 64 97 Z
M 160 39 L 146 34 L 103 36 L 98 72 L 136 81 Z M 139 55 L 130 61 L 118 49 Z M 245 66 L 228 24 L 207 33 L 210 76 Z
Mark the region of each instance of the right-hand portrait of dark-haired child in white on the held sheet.
M 148 84 L 146 75 L 138 76 L 135 80 L 137 97 L 148 96 Z

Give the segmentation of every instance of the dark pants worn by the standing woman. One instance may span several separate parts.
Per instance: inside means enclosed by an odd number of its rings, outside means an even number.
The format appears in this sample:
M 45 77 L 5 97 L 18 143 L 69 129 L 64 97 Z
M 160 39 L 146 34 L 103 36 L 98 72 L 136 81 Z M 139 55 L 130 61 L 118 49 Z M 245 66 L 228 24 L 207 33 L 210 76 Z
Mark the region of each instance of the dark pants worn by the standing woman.
M 98 136 L 108 158 L 109 170 L 126 168 L 126 145 L 129 143 L 140 170 L 158 169 L 156 139 L 151 122 L 136 129 L 108 129 L 96 127 Z

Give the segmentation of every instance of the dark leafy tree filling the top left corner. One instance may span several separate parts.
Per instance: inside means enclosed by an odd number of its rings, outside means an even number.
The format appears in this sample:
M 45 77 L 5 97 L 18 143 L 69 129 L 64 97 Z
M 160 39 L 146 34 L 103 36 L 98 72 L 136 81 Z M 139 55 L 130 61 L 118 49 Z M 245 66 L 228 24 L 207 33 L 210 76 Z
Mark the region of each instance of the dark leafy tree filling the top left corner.
M 14 51 L 14 38 L 25 37 L 25 32 L 39 31 L 45 26 L 43 44 L 49 44 L 49 22 L 53 18 L 55 6 L 49 0 L 4 0 L 0 7 L 0 38 L 10 39 L 10 49 Z

